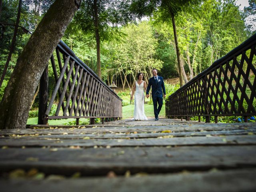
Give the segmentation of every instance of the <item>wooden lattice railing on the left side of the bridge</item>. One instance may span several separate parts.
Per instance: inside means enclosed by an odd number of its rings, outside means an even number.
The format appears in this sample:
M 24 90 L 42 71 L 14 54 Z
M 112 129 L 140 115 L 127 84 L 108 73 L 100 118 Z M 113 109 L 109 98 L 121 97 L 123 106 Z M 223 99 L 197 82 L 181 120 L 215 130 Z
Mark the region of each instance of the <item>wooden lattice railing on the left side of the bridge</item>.
M 51 59 L 55 78 L 55 88 L 48 100 L 48 68 L 40 80 L 38 124 L 46 124 L 48 119 L 95 118 L 117 120 L 122 118 L 122 100 L 110 89 L 74 52 L 60 41 Z M 57 65 L 56 65 L 57 63 Z M 58 94 L 58 98 L 57 98 Z M 50 115 L 52 106 L 56 112 Z

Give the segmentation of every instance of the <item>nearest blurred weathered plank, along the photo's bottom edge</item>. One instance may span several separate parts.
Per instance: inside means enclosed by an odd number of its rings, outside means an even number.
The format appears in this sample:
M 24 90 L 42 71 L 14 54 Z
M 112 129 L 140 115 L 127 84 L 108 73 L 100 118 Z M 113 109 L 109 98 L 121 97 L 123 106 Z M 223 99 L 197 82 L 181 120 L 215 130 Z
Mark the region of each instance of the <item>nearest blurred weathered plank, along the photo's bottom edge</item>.
M 129 178 L 95 177 L 61 180 L 0 180 L 1 188 L 8 192 L 76 191 L 97 192 L 237 192 L 254 191 L 256 170 L 227 170 L 216 172 L 182 172 L 176 174 L 147 175 Z

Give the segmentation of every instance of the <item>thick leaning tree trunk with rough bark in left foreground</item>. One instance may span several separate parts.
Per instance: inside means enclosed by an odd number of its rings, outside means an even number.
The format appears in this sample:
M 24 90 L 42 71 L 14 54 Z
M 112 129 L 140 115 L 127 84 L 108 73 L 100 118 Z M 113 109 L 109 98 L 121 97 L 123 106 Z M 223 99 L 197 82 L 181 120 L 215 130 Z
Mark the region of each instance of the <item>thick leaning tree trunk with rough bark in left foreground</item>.
M 0 103 L 0 129 L 26 128 L 36 86 L 81 0 L 56 0 L 20 54 Z

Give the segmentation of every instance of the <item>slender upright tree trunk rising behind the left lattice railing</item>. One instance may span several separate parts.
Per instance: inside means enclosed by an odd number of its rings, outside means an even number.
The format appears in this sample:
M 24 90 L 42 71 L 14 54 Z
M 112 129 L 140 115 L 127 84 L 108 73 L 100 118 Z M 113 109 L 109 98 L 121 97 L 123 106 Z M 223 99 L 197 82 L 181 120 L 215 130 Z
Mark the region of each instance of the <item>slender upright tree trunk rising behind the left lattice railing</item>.
M 97 46 L 97 74 L 101 78 L 101 66 L 100 66 L 100 34 L 99 34 L 99 18 L 98 18 L 98 6 L 97 0 L 94 0 L 94 28 Z

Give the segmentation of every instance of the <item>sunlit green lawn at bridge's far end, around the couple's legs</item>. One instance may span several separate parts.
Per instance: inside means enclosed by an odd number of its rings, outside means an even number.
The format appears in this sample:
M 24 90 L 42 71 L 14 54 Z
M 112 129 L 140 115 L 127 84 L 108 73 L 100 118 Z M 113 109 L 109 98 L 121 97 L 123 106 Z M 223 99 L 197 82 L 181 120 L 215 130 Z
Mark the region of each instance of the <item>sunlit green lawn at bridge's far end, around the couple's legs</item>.
M 123 112 L 123 119 L 130 119 L 133 118 L 133 113 L 134 113 L 134 105 L 127 105 L 122 107 L 122 112 Z M 154 118 L 154 106 L 149 105 L 149 104 L 144 104 L 144 110 L 145 110 L 145 115 L 147 118 Z M 165 105 L 162 106 L 162 109 L 159 114 L 160 118 L 165 118 Z

